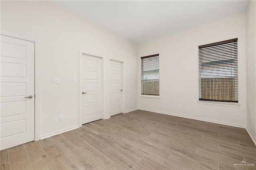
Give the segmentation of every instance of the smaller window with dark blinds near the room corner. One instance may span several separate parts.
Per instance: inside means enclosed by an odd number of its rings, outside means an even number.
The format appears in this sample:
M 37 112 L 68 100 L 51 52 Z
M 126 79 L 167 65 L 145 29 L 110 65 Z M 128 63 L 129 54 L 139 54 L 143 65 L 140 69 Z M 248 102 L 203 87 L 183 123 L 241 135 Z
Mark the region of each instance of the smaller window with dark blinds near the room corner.
M 159 54 L 141 57 L 141 94 L 159 96 Z

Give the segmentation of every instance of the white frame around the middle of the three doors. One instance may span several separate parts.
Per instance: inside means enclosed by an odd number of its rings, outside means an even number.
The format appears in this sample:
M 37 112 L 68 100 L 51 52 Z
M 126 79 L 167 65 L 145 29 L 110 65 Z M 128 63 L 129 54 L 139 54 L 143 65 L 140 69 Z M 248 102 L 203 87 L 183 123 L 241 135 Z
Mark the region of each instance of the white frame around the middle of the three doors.
M 82 63 L 82 57 L 83 55 L 88 55 L 88 56 L 92 56 L 92 57 L 97 57 L 97 58 L 100 58 L 102 59 L 102 65 L 101 65 L 101 72 L 102 72 L 102 77 L 101 77 L 101 82 L 102 82 L 102 119 L 106 119 L 105 115 L 106 113 L 104 112 L 104 108 L 105 108 L 105 103 L 104 102 L 104 98 L 105 98 L 105 83 L 104 83 L 104 77 L 106 76 L 105 74 L 105 71 L 104 71 L 104 57 L 100 57 L 100 56 L 97 56 L 97 55 L 92 55 L 92 54 L 88 54 L 86 52 L 84 52 L 83 50 L 79 50 L 79 91 L 78 91 L 78 94 L 79 94 L 79 126 L 82 127 L 82 66 L 83 66 L 83 63 Z

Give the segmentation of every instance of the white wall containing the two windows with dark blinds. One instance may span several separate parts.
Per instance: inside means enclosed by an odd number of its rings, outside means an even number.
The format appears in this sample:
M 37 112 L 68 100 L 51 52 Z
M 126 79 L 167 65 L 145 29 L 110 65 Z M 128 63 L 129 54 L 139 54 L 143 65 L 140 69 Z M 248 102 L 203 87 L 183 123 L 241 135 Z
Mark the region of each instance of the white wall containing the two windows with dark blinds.
M 198 45 L 238 38 L 237 105 L 206 105 L 198 102 Z M 138 47 L 138 91 L 140 57 L 159 53 L 160 99 L 139 97 L 139 109 L 189 117 L 226 125 L 246 126 L 245 14 L 225 18 L 197 28 L 142 43 Z M 177 104 L 183 108 L 178 109 Z

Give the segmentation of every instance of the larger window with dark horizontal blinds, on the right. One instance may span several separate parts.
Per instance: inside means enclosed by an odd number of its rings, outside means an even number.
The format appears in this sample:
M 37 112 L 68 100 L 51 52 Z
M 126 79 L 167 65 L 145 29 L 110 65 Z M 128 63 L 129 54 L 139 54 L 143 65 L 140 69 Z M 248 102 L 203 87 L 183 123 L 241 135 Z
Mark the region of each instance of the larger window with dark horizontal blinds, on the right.
M 238 103 L 237 38 L 198 46 L 199 100 Z

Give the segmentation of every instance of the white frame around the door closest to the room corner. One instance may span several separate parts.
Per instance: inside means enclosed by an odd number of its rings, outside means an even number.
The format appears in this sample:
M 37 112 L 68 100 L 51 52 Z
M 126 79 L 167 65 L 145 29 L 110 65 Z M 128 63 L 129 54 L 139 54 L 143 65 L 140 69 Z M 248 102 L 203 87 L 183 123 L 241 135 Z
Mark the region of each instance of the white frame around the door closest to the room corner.
M 116 59 L 109 59 L 109 61 L 108 61 L 108 65 L 109 65 L 109 69 L 108 69 L 108 77 L 109 77 L 109 81 L 108 81 L 108 85 L 109 85 L 109 103 L 110 103 L 110 116 L 111 116 L 111 95 L 110 95 L 110 93 L 111 93 L 111 78 L 110 78 L 110 74 L 111 74 L 111 70 L 110 70 L 110 62 L 111 61 L 117 61 L 117 62 L 120 62 L 121 63 L 121 67 L 122 67 L 122 69 L 121 69 L 121 77 L 122 77 L 122 103 L 121 103 L 121 106 L 122 106 L 122 113 L 126 113 L 125 112 L 125 87 L 124 87 L 124 85 L 125 85 L 125 83 L 124 83 L 124 62 L 123 61 L 118 61 L 118 60 L 116 60 Z

